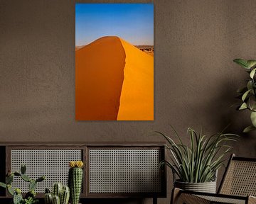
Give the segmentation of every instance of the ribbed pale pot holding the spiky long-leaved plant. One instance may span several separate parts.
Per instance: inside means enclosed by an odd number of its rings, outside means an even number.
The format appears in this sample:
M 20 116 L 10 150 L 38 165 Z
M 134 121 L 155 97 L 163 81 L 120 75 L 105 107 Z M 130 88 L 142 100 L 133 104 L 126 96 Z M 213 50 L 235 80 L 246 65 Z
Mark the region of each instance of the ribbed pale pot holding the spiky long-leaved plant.
M 216 181 L 210 181 L 206 183 L 187 183 L 181 181 L 175 181 L 174 186 L 186 191 L 195 191 L 203 193 L 216 193 Z

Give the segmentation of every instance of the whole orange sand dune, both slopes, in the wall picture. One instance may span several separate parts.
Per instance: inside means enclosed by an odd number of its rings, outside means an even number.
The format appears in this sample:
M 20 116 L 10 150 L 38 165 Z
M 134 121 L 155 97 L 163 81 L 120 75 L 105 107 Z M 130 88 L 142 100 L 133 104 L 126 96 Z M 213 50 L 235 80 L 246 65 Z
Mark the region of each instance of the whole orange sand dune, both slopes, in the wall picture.
M 75 51 L 76 120 L 154 120 L 154 58 L 117 37 Z

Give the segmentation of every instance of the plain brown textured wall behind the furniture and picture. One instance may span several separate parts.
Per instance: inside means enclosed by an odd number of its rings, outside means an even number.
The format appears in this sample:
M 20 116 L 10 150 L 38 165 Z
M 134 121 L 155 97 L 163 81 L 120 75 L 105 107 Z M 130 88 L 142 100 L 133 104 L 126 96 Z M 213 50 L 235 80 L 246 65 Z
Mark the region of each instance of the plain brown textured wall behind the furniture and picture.
M 256 58 L 256 2 L 154 6 L 154 122 L 85 122 L 75 121 L 75 1 L 0 0 L 0 141 L 160 141 L 149 132 L 169 124 L 186 141 L 188 127 L 211 134 L 231 123 L 240 134 L 250 118 L 231 105 L 246 74 L 232 60 Z M 233 152 L 255 157 L 255 134 L 240 134 Z

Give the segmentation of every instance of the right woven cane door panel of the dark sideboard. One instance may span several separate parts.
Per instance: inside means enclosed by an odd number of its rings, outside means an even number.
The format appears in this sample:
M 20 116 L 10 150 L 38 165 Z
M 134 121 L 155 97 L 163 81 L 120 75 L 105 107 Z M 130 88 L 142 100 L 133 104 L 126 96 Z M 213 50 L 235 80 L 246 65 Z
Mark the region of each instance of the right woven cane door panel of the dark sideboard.
M 159 195 L 161 148 L 88 147 L 89 196 Z

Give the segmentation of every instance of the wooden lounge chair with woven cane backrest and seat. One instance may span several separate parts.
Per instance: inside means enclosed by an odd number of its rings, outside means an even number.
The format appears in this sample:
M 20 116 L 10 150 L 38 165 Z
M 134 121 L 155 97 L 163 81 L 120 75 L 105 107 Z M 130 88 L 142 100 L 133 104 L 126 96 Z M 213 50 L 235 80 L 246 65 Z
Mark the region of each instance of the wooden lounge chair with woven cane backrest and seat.
M 218 193 L 198 193 L 174 188 L 171 204 L 256 203 L 256 159 L 232 154 Z

